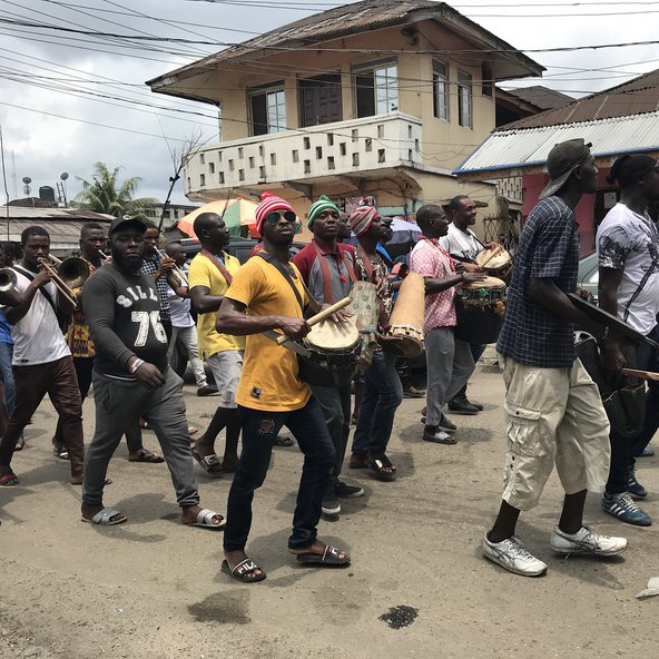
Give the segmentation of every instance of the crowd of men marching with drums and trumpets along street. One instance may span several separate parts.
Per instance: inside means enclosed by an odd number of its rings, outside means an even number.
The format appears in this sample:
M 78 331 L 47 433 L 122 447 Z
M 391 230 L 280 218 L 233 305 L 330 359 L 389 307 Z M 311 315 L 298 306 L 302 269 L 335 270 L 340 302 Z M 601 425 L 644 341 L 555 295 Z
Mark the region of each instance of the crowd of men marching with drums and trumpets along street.
M 609 424 L 600 391 L 574 352 L 573 330 L 579 326 L 600 342 L 611 381 L 622 382 L 626 365 L 659 370 L 659 351 L 639 343 L 630 353 L 619 334 L 568 297 L 577 289 L 579 260 L 574 207 L 596 189 L 589 147 L 573 139 L 549 154 L 550 181 L 521 234 L 496 346 L 506 392 L 508 451 L 501 508 L 482 551 L 524 576 L 543 574 L 547 564 L 515 535 L 517 521 L 538 503 L 554 464 L 565 498 L 550 537 L 553 551 L 613 555 L 626 549 L 623 538 L 597 534 L 583 524 L 588 490 L 603 492 L 603 510 L 621 521 L 651 523 L 635 502 L 648 494 L 636 478 L 636 459 L 659 427 L 658 383 L 650 383 L 642 427 L 630 437 Z M 640 335 L 659 340 L 659 236 L 648 215 L 649 203 L 659 196 L 657 163 L 623 156 L 611 169 L 611 181 L 619 184 L 621 199 L 598 230 L 600 305 Z M 470 229 L 475 220 L 472 199 L 455 197 L 447 213 L 437 205 L 416 212 L 422 236 L 407 258 L 410 272 L 423 277 L 425 295 L 427 390 L 420 439 L 437 444 L 456 443 L 458 429 L 444 411 L 482 410 L 468 399 L 466 384 L 484 345 L 456 337 L 455 305 L 464 287 L 485 277 L 478 254 L 495 247 L 483 245 Z M 299 220 L 288 201 L 264 194 L 255 223 L 263 240 L 240 265 L 226 252 L 229 234 L 223 218 L 200 214 L 194 228 L 201 250 L 189 268 L 179 243 L 168 244 L 165 253 L 158 249 L 155 226 L 120 217 L 106 236 L 101 226 L 88 224 L 80 254 L 90 275 L 70 296 L 43 266 L 48 232 L 39 226 L 23 232 L 22 257 L 12 266 L 16 285 L 0 292 L 1 485 L 18 484 L 12 458 L 48 393 L 59 417 L 53 450 L 70 461 L 71 483 L 82 486 L 83 522 L 127 521 L 124 512 L 104 503 L 108 464 L 126 435 L 130 460 L 167 463 L 183 523 L 224 529 L 222 570 L 240 582 L 257 582 L 266 573 L 246 553 L 252 503 L 286 426 L 304 454 L 288 551 L 305 564 L 350 564 L 345 551 L 318 539 L 317 525 L 323 513 L 341 511 L 342 498 L 364 494 L 342 478 L 344 462 L 381 481 L 395 480 L 387 445 L 403 399 L 396 361 L 374 344 L 355 382 L 309 385 L 291 347 L 309 334 L 313 312 L 350 296 L 358 282 L 375 291 L 377 326 L 372 332 L 387 332 L 399 287 L 383 250 L 388 226 L 374 206 L 342 218 L 336 204 L 322 196 L 306 217 L 313 239 L 292 257 Z M 356 246 L 343 242 L 351 233 Z M 0 257 L 11 265 L 8 249 Z M 350 324 L 352 313 L 335 312 L 332 322 Z M 283 345 L 274 341 L 282 336 Z M 177 341 L 187 352 L 197 394 L 215 395 L 217 403 L 193 446 L 195 429 L 186 419 L 183 381 L 169 366 Z M 85 450 L 81 409 L 91 385 L 96 424 Z M 354 410 L 352 387 L 361 393 Z M 356 429 L 345 460 L 351 413 Z M 144 447 L 140 424 L 155 431 L 163 455 Z M 220 459 L 216 442 L 223 430 Z M 195 461 L 213 476 L 234 474 L 226 520 L 200 505 Z

